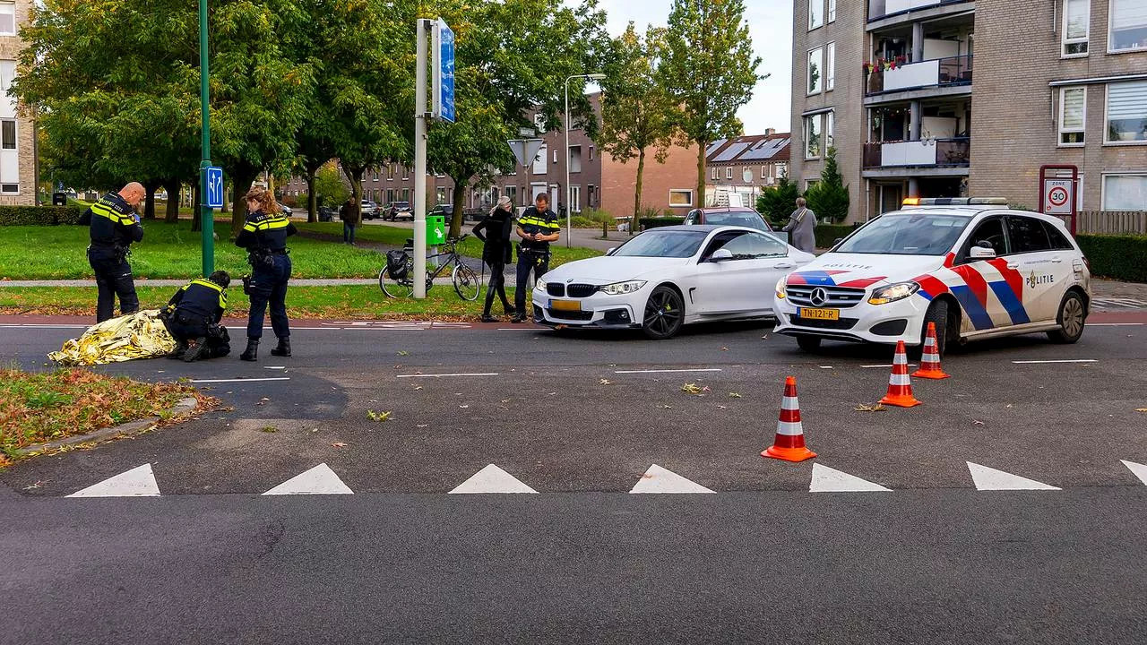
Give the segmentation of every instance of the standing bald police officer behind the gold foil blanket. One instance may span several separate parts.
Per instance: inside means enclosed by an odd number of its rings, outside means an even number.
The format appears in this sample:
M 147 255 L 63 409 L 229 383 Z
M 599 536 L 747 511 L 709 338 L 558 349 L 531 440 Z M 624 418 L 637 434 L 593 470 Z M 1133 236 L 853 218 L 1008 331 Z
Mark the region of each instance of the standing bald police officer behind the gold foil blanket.
M 89 227 L 92 243 L 87 247 L 87 262 L 95 272 L 99 298 L 95 321 L 103 322 L 115 316 L 116 296 L 119 296 L 122 314 L 139 311 L 140 300 L 132 281 L 132 266 L 127 264 L 132 242 L 143 239 L 143 227 L 135 207 L 147 195 L 143 185 L 136 181 L 123 187 L 119 193 L 108 193 L 91 205 L 79 223 Z

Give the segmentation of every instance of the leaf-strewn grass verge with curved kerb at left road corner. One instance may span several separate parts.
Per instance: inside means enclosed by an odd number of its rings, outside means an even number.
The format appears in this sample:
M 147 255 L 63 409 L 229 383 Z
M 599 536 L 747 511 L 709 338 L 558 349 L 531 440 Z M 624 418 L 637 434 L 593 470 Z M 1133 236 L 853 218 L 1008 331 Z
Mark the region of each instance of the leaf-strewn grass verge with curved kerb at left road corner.
M 163 417 L 194 393 L 177 383 L 141 383 L 87 370 L 0 370 L 0 468 L 18 458 L 17 449 Z

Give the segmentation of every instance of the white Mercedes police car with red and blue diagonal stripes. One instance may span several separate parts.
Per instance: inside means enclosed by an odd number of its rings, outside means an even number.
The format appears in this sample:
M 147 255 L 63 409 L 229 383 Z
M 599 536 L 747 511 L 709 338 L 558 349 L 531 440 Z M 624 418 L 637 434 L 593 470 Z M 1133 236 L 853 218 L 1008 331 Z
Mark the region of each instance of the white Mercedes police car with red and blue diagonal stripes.
M 814 351 L 824 339 L 963 343 L 1046 332 L 1074 343 L 1091 271 L 1056 217 L 998 199 L 911 199 L 777 282 L 777 333 Z

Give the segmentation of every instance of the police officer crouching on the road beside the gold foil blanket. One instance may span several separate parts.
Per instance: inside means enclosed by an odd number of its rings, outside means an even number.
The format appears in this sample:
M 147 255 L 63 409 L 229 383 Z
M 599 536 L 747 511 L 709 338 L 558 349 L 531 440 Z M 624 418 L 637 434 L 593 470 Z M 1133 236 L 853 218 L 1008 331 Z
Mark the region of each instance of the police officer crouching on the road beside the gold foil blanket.
M 171 296 L 161 312 L 167 331 L 175 337 L 175 353 L 187 363 L 231 353 L 231 337 L 221 327 L 227 310 L 231 275 L 216 271 L 206 280 L 192 280 Z

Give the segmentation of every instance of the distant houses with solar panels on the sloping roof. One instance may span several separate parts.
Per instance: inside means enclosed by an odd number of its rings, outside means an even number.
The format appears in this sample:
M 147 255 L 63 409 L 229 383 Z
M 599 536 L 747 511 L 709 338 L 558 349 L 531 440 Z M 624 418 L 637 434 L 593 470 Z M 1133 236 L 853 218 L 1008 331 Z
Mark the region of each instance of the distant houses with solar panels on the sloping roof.
M 752 205 L 757 195 L 788 176 L 788 132 L 773 129 L 764 134 L 748 134 L 735 139 L 720 139 L 705 150 L 705 205 L 724 205 L 732 194 L 741 195 L 741 203 Z

